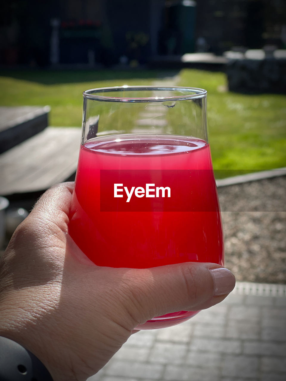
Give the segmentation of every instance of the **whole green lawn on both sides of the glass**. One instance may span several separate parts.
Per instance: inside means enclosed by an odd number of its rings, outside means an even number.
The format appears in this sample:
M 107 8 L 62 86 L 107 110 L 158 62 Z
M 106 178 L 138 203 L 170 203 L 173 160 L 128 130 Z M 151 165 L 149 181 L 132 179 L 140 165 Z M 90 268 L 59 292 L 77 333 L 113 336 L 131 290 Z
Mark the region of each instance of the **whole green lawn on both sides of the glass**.
M 6 71 L 0 75 L 0 105 L 50 105 L 50 125 L 80 126 L 84 90 L 149 85 L 159 72 Z M 193 69 L 180 72 L 179 85 L 208 91 L 209 139 L 217 178 L 286 166 L 286 96 L 229 93 L 223 73 Z

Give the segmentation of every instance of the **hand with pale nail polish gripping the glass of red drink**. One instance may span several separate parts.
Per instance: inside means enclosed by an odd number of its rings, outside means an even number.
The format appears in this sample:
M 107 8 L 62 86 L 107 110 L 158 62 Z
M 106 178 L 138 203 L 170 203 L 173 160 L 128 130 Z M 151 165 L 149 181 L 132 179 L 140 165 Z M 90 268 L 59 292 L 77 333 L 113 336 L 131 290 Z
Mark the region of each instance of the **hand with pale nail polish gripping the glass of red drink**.
M 208 308 L 235 285 L 213 263 L 95 266 L 68 235 L 72 189 L 64 183 L 45 192 L 0 262 L 0 335 L 34 353 L 55 381 L 85 380 L 138 324 Z

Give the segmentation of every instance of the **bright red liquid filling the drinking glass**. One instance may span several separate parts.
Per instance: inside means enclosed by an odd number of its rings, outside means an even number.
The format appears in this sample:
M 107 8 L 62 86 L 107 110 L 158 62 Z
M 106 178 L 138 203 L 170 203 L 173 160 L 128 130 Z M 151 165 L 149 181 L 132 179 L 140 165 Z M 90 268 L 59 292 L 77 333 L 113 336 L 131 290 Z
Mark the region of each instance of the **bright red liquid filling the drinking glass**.
M 101 211 L 102 199 L 113 195 L 113 189 L 112 193 L 104 189 L 105 182 L 100 188 L 100 175 L 109 174 L 106 170 L 121 173 L 119 181 L 123 186 L 129 184 L 129 191 L 132 181 L 134 187 L 145 185 L 136 184 L 140 173 L 146 177 L 162 172 L 171 197 L 166 193 L 165 198 L 147 199 L 145 189 L 140 198 L 133 192 L 127 203 L 122 191 L 122 198 L 110 200 L 110 211 Z M 157 178 L 152 179 L 150 182 L 156 183 Z M 178 187 L 183 187 L 186 197 L 175 199 L 173 190 Z M 80 148 L 69 232 L 98 266 L 148 268 L 188 261 L 223 265 L 223 233 L 209 145 L 196 138 L 151 134 L 87 141 Z M 169 327 L 196 313 L 180 311 L 156 317 L 138 329 Z

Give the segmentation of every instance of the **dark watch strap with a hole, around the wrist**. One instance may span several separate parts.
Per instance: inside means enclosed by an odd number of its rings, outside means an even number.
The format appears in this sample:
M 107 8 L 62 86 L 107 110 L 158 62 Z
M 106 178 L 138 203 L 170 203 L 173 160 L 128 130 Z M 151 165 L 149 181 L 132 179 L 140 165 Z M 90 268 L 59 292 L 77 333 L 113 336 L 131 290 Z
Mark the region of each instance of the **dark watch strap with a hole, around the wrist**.
M 45 365 L 13 340 L 0 336 L 0 381 L 53 381 Z

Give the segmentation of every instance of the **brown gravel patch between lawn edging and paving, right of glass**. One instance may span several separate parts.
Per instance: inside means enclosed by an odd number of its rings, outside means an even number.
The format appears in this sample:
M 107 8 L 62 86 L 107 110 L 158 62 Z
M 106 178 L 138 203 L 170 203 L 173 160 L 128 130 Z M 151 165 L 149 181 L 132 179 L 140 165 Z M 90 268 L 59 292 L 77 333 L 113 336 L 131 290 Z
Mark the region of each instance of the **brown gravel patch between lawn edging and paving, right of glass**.
M 286 176 L 218 191 L 225 266 L 237 280 L 286 284 Z

